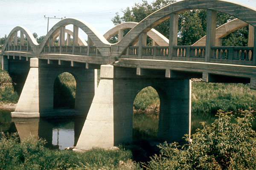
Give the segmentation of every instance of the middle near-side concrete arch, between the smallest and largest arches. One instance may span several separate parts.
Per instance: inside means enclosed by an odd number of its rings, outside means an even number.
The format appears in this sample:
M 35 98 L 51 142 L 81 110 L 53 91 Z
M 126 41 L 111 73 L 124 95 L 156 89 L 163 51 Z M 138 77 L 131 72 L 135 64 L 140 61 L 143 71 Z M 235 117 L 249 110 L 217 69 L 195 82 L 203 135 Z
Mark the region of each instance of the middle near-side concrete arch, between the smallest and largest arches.
M 61 26 L 67 26 L 73 24 L 74 26 L 77 26 L 83 30 L 88 37 L 90 37 L 90 40 L 95 44 L 95 46 L 98 48 L 99 52 L 102 54 L 102 56 L 108 56 L 109 55 L 109 50 L 110 50 L 110 45 L 109 43 L 100 33 L 97 31 L 93 26 L 91 26 L 89 23 L 75 19 L 75 18 L 66 18 L 64 20 L 59 21 L 56 23 L 47 33 L 47 35 L 44 37 L 43 41 L 41 44 L 38 46 L 38 53 L 41 53 L 43 50 L 46 42 L 49 40 L 49 38 L 58 33 L 58 30 L 60 29 Z M 100 47 L 100 48 L 99 48 Z

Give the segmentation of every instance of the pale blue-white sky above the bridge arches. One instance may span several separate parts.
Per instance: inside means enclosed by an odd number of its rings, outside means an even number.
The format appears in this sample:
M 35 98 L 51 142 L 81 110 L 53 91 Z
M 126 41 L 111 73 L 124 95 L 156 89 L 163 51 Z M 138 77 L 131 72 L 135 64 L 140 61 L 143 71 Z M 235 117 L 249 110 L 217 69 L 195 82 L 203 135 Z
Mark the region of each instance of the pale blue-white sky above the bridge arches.
M 231 1 L 256 8 L 256 0 Z M 44 15 L 84 20 L 103 35 L 113 28 L 111 19 L 116 12 L 122 16 L 122 10 L 135 6 L 135 3 L 142 3 L 142 0 L 0 0 L 0 37 L 8 35 L 15 26 L 24 26 L 32 33 L 36 32 L 38 37 L 46 35 L 47 19 Z M 49 19 L 49 29 L 58 21 L 60 19 Z M 87 39 L 82 31 L 79 34 Z

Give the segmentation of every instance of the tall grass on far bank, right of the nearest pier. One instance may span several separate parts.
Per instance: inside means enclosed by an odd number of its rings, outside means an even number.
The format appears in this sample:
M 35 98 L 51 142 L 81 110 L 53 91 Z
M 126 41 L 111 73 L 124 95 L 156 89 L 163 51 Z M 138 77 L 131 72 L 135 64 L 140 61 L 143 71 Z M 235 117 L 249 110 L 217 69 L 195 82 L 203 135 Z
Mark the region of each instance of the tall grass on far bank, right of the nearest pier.
M 192 112 L 256 109 L 256 91 L 248 84 L 192 82 Z

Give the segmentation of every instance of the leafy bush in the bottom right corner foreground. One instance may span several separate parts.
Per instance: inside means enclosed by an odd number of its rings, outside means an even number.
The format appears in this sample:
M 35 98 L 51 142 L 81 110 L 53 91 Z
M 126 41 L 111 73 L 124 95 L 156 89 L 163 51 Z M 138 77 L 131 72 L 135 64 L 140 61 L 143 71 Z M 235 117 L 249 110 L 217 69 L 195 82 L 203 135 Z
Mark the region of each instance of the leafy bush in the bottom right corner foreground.
M 188 146 L 160 144 L 160 155 L 153 156 L 147 170 L 244 170 L 256 169 L 256 132 L 253 113 L 235 117 L 219 111 L 211 125 L 198 129 Z M 234 121 L 235 120 L 235 121 Z

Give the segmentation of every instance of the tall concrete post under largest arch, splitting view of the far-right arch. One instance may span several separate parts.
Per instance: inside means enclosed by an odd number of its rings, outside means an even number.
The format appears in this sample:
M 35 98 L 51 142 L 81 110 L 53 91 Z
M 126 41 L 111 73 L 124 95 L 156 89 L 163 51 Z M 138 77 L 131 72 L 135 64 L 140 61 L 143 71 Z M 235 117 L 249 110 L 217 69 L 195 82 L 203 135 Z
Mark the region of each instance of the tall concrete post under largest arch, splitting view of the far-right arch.
M 205 62 L 210 62 L 212 46 L 215 45 L 217 12 L 207 9 Z

